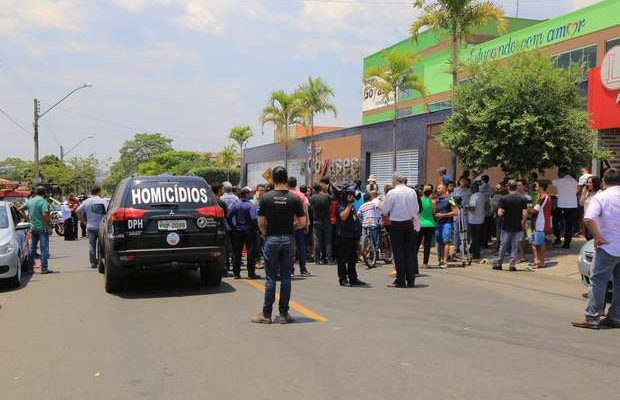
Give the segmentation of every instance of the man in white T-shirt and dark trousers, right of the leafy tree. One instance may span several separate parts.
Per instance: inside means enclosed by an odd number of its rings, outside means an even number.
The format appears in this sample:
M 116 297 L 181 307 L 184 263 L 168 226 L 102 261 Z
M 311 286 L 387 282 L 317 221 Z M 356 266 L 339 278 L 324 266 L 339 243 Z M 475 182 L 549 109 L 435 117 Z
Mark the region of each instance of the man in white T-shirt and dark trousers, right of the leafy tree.
M 558 179 L 554 179 L 558 194 L 558 206 L 556 215 L 560 218 L 560 222 L 564 224 L 564 244 L 563 248 L 570 248 L 570 242 L 575 233 L 575 224 L 577 223 L 577 186 L 578 182 L 575 178 L 568 174 L 568 168 L 560 167 L 558 170 Z M 559 232 L 556 232 L 555 244 L 560 243 Z

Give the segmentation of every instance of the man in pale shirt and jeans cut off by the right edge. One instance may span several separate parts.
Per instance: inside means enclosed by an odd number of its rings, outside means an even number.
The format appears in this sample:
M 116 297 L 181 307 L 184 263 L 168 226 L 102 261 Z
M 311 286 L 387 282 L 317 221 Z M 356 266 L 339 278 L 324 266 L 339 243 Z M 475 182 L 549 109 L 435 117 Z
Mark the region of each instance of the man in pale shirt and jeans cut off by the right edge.
M 585 318 L 573 322 L 578 328 L 620 328 L 620 170 L 608 169 L 603 183 L 606 189 L 592 198 L 585 215 L 596 254 L 590 271 Z M 612 279 L 615 284 L 611 307 L 607 317 L 599 321 L 605 309 L 607 284 Z

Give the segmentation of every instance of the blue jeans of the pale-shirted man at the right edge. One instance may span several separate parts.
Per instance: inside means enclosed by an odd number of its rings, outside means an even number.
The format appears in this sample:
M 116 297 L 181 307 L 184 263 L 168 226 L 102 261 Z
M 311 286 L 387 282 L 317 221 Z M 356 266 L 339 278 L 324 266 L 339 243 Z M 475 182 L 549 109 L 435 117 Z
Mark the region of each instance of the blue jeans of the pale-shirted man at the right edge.
M 612 256 L 605 250 L 598 248 L 590 271 L 590 293 L 586 308 L 587 320 L 598 321 L 600 318 L 601 312 L 605 309 L 607 283 L 611 278 L 614 281 L 614 294 L 607 317 L 620 322 L 620 291 L 616 293 L 615 290 L 620 287 L 620 257 Z

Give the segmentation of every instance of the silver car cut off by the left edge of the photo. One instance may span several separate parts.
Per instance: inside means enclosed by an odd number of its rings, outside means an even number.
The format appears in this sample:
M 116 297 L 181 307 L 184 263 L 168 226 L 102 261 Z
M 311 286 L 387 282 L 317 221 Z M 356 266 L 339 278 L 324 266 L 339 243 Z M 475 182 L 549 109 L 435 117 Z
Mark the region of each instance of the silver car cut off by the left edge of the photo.
M 19 287 L 22 268 L 28 259 L 28 231 L 30 224 L 20 222 L 19 214 L 11 203 L 0 201 L 0 279 Z

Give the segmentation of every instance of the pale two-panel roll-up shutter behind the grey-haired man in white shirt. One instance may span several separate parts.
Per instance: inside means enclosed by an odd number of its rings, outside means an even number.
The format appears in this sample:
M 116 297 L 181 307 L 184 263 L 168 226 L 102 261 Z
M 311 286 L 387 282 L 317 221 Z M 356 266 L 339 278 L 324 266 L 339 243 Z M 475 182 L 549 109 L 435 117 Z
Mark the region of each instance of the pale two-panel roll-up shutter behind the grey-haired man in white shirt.
M 417 185 L 419 174 L 420 150 L 409 149 L 396 152 L 396 170 L 405 175 L 409 185 Z M 370 154 L 370 174 L 377 180 L 379 190 L 392 184 L 392 152 Z

